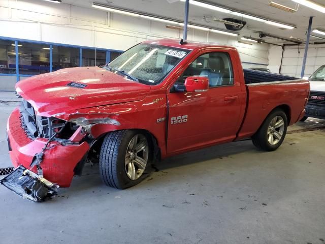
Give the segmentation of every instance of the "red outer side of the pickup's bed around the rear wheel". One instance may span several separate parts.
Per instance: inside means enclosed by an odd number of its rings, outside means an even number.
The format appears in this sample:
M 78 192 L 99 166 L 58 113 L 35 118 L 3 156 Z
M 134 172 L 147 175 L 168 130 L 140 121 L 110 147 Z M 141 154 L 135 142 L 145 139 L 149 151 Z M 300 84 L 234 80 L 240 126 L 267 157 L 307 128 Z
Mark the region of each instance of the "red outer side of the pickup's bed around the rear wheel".
M 246 113 L 237 139 L 252 136 L 276 107 L 287 113 L 288 125 L 297 122 L 307 103 L 307 80 L 254 70 L 244 70 L 244 76 Z

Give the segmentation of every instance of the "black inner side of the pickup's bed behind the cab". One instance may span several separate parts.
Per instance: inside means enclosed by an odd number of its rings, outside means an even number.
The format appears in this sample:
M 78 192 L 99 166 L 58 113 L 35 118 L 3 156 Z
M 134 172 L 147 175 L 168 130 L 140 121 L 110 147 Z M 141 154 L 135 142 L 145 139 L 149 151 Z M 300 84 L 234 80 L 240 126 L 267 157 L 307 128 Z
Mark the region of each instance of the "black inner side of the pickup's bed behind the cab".
M 244 69 L 245 84 L 274 82 L 284 80 L 297 80 L 297 77 L 268 73 L 257 70 Z

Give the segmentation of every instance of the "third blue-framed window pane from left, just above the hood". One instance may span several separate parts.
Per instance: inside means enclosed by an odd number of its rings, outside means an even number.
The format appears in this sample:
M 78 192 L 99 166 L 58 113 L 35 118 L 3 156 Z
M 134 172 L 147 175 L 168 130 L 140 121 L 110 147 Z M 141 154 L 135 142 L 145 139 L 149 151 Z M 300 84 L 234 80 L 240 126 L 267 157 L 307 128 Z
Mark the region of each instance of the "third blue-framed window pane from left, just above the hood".
M 79 67 L 79 48 L 53 46 L 52 48 L 52 70 Z

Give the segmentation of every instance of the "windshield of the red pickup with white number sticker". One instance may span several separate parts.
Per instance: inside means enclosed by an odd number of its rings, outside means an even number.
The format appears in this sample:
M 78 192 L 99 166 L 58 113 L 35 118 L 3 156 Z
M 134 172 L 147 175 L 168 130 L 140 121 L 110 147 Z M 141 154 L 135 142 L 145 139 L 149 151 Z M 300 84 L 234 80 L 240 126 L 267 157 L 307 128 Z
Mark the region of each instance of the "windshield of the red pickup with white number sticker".
M 155 85 L 189 52 L 186 49 L 154 44 L 139 44 L 104 66 L 111 72 L 141 83 Z

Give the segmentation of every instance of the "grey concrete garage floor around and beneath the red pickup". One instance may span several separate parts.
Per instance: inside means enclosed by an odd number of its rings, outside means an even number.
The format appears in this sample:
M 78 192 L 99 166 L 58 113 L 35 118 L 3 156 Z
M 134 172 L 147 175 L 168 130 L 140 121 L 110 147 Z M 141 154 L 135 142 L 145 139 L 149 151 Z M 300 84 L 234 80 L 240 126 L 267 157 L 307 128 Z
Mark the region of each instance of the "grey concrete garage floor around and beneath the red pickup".
M 0 102 L 0 167 L 11 166 L 5 121 L 14 106 Z M 165 160 L 123 191 L 103 185 L 88 166 L 44 203 L 0 187 L 0 243 L 323 244 L 324 143 L 317 130 L 288 134 L 270 153 L 251 141 L 214 146 Z

